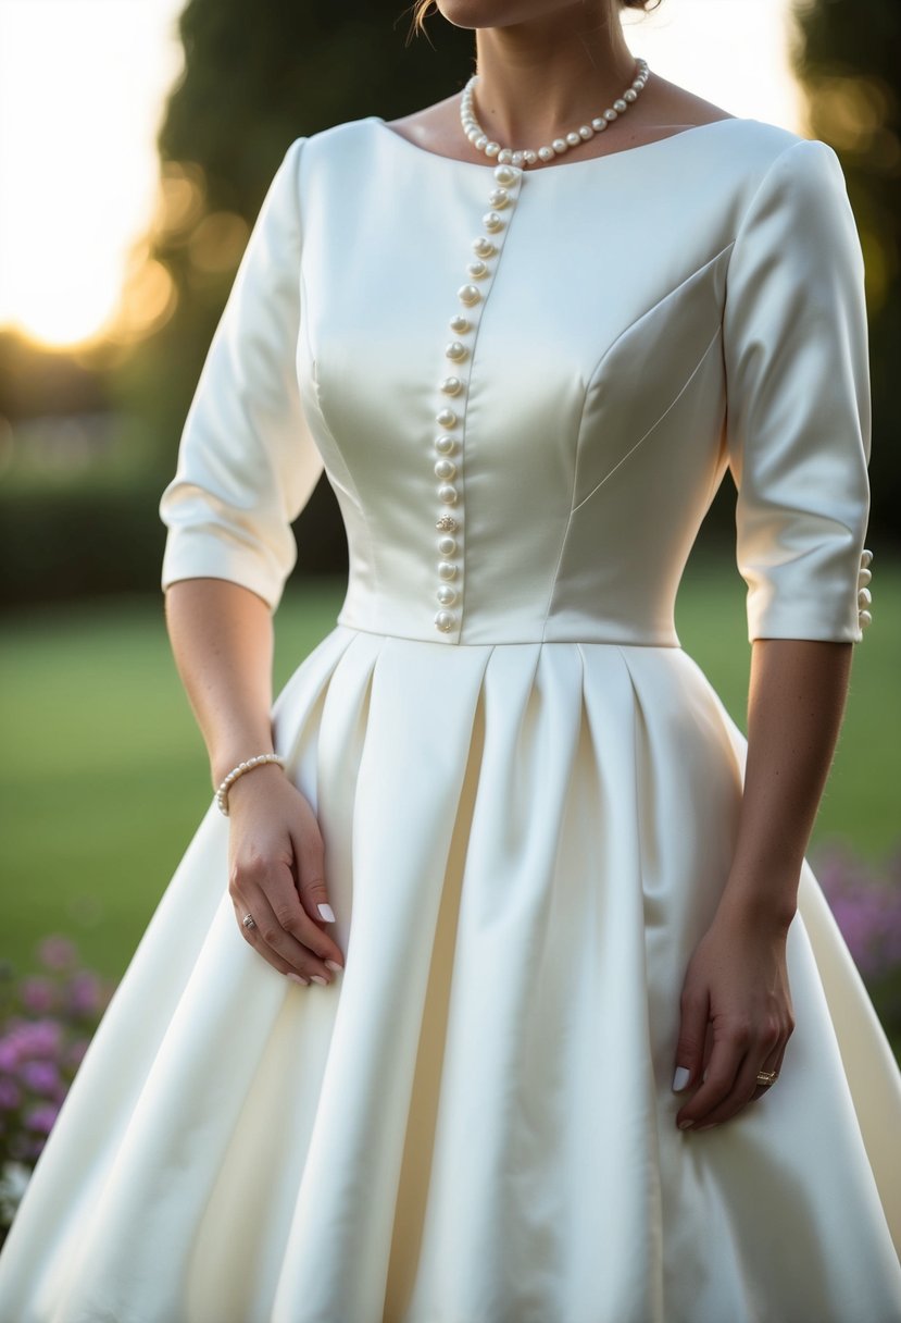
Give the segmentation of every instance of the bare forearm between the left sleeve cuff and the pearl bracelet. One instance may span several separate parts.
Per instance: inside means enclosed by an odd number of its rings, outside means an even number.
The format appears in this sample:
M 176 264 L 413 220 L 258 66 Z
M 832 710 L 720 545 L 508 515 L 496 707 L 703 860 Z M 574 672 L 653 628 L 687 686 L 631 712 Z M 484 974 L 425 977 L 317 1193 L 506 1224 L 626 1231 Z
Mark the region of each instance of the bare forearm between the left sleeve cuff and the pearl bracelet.
M 272 617 L 262 598 L 226 579 L 166 590 L 178 675 L 219 785 L 238 762 L 272 750 Z

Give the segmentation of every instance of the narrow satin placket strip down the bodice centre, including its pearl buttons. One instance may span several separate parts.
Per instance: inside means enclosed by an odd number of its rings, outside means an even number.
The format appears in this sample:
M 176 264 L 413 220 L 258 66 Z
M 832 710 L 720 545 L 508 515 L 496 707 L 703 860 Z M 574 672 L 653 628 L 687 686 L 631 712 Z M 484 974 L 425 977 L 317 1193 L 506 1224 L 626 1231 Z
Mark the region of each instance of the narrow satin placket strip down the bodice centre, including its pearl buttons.
M 497 259 L 503 249 L 510 216 L 519 197 L 522 173 L 517 165 L 495 165 L 491 171 L 494 187 L 486 197 L 490 210 L 482 216 L 485 233 L 472 241 L 474 258 L 465 266 L 465 283 L 457 290 L 460 308 L 450 318 L 453 339 L 444 349 L 447 360 L 444 370 L 447 372 L 449 364 L 453 364 L 456 370 L 452 376 L 441 376 L 437 384 L 441 400 L 453 400 L 453 409 L 444 402 L 439 404 L 435 422 L 440 430 L 432 442 L 436 493 L 440 503 L 435 521 L 439 534 L 435 542 L 439 553 L 435 599 L 440 610 L 435 614 L 435 627 L 448 643 L 458 642 L 462 615 L 464 441 L 473 351 L 485 300 L 494 282 Z M 452 607 L 456 607 L 456 611 L 450 610 Z

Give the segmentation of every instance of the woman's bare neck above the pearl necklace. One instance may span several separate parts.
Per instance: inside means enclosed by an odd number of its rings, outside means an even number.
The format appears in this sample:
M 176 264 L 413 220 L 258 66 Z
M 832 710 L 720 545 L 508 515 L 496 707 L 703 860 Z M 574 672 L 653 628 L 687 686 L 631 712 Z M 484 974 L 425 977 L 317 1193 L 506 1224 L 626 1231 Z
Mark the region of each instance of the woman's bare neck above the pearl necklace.
M 591 122 L 622 95 L 635 57 L 618 12 L 591 8 L 571 4 L 528 22 L 476 30 L 476 108 L 486 134 L 531 146 Z

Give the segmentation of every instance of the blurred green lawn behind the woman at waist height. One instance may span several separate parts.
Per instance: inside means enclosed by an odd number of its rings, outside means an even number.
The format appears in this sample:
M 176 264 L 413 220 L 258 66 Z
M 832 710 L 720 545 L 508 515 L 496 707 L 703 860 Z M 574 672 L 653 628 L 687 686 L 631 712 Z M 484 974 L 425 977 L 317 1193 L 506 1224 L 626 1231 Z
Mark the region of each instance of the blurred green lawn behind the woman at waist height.
M 875 623 L 855 659 L 814 852 L 844 837 L 880 860 L 901 836 L 901 565 L 875 569 Z M 343 581 L 317 581 L 285 597 L 276 692 L 332 628 L 342 595 Z M 744 726 L 749 648 L 731 564 L 691 568 L 678 619 L 683 646 Z M 28 968 L 42 935 L 66 931 L 87 963 L 118 978 L 211 796 L 162 597 L 7 618 L 0 724 L 0 957 Z

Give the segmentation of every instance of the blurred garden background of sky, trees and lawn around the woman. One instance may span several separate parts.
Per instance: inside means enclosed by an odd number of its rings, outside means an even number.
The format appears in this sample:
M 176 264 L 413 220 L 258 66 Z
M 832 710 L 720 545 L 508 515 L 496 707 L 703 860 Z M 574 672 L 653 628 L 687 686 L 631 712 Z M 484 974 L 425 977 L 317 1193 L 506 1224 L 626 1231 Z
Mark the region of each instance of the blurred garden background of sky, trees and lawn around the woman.
M 157 504 L 192 393 L 288 144 L 408 114 L 472 73 L 470 34 L 433 16 L 408 42 L 410 19 L 371 0 L 0 0 L 0 957 L 8 1013 L 67 998 L 74 1040 L 211 796 L 159 586 Z M 897 1050 L 901 9 L 665 0 L 622 21 L 653 71 L 823 139 L 846 172 L 871 324 L 875 623 L 811 857 Z M 733 499 L 727 482 L 678 623 L 744 726 Z M 277 687 L 343 595 L 325 479 L 296 533 Z

